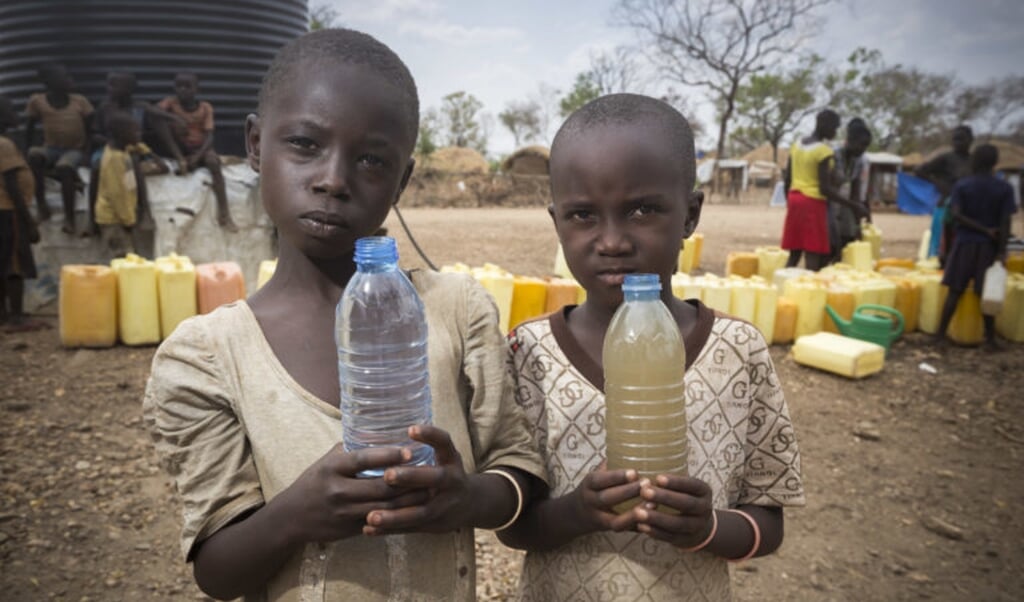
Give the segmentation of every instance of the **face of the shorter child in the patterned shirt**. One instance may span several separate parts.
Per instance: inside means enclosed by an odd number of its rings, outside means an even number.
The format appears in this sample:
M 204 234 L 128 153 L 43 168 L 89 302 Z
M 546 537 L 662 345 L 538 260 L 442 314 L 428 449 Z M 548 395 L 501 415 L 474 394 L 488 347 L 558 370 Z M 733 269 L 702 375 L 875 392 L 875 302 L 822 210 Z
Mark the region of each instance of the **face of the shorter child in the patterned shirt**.
M 660 276 L 671 293 L 681 241 L 700 216 L 667 137 L 654 128 L 598 126 L 560 144 L 551 215 L 587 303 L 613 311 L 627 273 Z

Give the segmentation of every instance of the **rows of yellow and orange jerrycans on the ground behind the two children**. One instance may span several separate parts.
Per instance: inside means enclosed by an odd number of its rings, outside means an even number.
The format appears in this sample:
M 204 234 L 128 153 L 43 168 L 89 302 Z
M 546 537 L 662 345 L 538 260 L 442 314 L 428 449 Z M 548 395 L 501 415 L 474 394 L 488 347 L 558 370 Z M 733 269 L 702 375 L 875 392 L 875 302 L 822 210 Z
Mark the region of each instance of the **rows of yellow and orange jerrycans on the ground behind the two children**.
M 754 325 L 769 344 L 793 344 L 798 362 L 859 378 L 882 370 L 902 334 L 934 334 L 946 290 L 934 259 L 881 257 L 882 232 L 865 224 L 863 240 L 843 251 L 843 262 L 818 272 L 785 267 L 786 251 L 759 247 L 729 253 L 724 276 L 691 275 L 700 267 L 703 234 L 687 239 L 679 253 L 673 293 L 699 299 L 712 309 Z M 260 264 L 257 288 L 276 262 Z M 998 333 L 1024 342 L 1024 254 L 1011 255 Z M 572 280 L 561 248 L 554 277 L 516 275 L 487 263 L 457 263 L 441 271 L 466 272 L 494 297 L 501 329 L 582 303 L 586 292 Z M 69 347 L 156 344 L 183 319 L 244 298 L 245 281 L 233 262 L 193 265 L 170 255 L 148 261 L 135 255 L 110 266 L 67 265 L 60 273 L 60 339 Z M 948 336 L 962 345 L 981 343 L 981 302 L 965 293 Z

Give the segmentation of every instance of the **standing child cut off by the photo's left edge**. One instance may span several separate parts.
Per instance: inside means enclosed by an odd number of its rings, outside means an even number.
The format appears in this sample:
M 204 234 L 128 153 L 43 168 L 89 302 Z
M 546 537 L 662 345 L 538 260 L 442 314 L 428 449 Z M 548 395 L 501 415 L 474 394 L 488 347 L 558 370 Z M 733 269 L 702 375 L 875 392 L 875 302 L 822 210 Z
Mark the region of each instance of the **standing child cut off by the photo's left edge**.
M 0 326 L 7 331 L 42 328 L 24 311 L 25 281 L 36 277 L 32 245 L 39 242 L 39 230 L 29 213 L 29 200 L 35 180 L 25 157 L 5 136 L 17 125 L 17 114 L 0 96 Z

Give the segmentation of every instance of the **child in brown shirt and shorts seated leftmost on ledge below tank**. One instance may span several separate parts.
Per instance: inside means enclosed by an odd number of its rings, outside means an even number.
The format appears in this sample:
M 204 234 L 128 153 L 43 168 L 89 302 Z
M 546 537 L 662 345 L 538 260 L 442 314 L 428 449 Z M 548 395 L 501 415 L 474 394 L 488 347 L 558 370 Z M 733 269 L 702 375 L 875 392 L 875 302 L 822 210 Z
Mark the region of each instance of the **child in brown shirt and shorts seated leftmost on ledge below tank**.
M 36 179 L 36 211 L 39 219 L 50 218 L 43 178 L 46 170 L 53 168 L 60 182 L 65 212 L 60 229 L 70 234 L 75 232 L 77 170 L 88 152 L 93 110 L 85 96 L 72 92 L 75 84 L 62 64 L 43 66 L 39 69 L 39 79 L 46 91 L 30 96 L 25 107 L 29 118 L 25 126 L 27 146 L 35 137 L 36 124 L 43 126 L 43 145 L 31 146 L 28 152 L 29 165 Z

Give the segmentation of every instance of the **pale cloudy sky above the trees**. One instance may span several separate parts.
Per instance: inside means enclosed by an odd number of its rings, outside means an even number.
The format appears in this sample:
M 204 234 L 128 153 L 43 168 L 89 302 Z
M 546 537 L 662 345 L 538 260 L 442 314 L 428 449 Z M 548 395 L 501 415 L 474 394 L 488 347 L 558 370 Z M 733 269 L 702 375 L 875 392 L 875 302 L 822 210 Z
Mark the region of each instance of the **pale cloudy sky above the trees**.
M 341 25 L 391 46 L 416 78 L 424 109 L 457 90 L 479 98 L 493 118 L 488 147 L 496 157 L 513 150 L 497 120 L 509 101 L 538 96 L 542 84 L 564 91 L 593 53 L 634 41 L 632 32 L 609 23 L 614 0 L 374 0 L 358 8 L 310 0 L 317 3 L 334 6 Z M 824 16 L 811 49 L 837 62 L 866 46 L 889 63 L 969 83 L 1024 75 L 1021 0 L 857 0 Z M 713 119 L 703 98 L 691 104 Z

